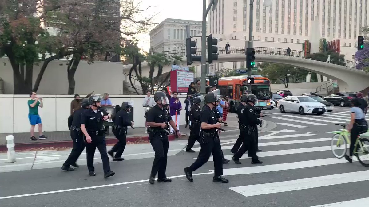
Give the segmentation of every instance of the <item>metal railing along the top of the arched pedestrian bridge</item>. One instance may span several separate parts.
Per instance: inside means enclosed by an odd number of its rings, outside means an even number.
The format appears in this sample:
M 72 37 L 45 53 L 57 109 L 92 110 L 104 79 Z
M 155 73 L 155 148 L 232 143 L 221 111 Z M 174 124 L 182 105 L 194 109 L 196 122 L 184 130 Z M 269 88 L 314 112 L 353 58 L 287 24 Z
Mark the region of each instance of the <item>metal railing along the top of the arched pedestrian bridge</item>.
M 287 49 L 285 48 L 263 48 L 263 47 L 254 47 L 255 49 L 255 54 L 265 54 L 265 55 L 283 55 L 283 56 L 292 56 L 292 57 L 304 57 L 306 59 L 309 59 L 310 56 L 316 55 L 317 53 L 305 53 L 305 51 L 299 51 L 299 50 L 291 50 L 290 54 L 287 55 Z M 170 51 L 163 51 L 162 53 L 164 53 L 165 55 L 178 55 L 178 56 L 186 56 L 186 50 L 185 49 L 181 49 L 181 50 L 170 50 Z M 207 50 L 206 50 L 207 53 Z M 218 47 L 218 54 L 219 55 L 229 55 L 229 54 L 245 54 L 245 47 L 229 47 L 227 48 L 227 50 L 225 49 L 225 47 Z M 201 55 L 201 48 L 196 48 L 196 55 Z M 319 53 L 320 57 L 324 57 L 321 58 L 317 61 L 321 61 L 321 62 L 327 62 L 328 60 L 328 56 L 327 55 L 323 55 Z M 330 62 L 332 64 L 338 64 L 338 65 L 343 65 L 346 67 L 350 67 L 350 68 L 356 68 L 356 66 L 358 64 L 362 65 L 363 67 L 369 66 L 366 64 L 362 64 L 362 63 L 357 63 L 357 62 L 353 62 L 350 60 L 345 60 L 343 58 L 335 58 L 334 62 Z M 358 69 L 361 70 L 361 69 Z

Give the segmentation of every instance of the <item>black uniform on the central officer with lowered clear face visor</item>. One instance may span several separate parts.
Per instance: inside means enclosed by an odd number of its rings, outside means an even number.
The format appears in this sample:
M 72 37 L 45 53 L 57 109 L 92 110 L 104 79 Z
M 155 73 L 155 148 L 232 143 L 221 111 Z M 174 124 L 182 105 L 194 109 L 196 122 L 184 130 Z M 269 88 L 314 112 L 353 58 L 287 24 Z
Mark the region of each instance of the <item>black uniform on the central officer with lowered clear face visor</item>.
M 156 104 L 147 112 L 146 122 L 168 123 L 170 120 L 172 120 L 172 117 L 168 115 L 168 110 L 165 106 L 160 108 L 160 106 Z M 170 182 L 165 175 L 169 148 L 168 133 L 164 131 L 162 127 L 149 127 L 149 129 L 151 130 L 149 132 L 149 140 L 155 151 L 155 158 L 152 163 L 150 178 L 155 178 L 156 173 L 158 173 L 159 182 Z M 167 127 L 166 130 L 168 131 L 169 127 Z

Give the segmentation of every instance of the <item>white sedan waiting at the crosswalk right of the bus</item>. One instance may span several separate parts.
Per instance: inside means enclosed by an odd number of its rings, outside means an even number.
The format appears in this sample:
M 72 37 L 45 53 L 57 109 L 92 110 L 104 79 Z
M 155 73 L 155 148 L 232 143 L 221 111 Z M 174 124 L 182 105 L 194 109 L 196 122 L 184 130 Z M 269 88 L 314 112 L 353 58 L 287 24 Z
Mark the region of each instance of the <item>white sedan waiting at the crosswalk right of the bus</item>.
M 278 101 L 277 107 L 280 112 L 299 112 L 301 115 L 308 114 L 323 114 L 327 112 L 327 108 L 323 103 L 320 103 L 308 96 L 288 96 Z

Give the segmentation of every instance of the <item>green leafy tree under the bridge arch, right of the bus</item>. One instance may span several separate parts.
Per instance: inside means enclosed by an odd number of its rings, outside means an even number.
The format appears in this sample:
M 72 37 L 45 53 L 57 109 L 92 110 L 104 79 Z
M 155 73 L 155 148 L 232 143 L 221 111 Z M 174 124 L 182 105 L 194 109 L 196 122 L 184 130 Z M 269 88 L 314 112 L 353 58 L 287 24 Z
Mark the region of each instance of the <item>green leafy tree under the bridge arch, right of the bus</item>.
M 285 88 L 288 88 L 291 79 L 303 79 L 309 73 L 307 70 L 279 63 L 262 63 L 260 68 L 261 76 L 269 78 L 272 82 L 283 83 Z

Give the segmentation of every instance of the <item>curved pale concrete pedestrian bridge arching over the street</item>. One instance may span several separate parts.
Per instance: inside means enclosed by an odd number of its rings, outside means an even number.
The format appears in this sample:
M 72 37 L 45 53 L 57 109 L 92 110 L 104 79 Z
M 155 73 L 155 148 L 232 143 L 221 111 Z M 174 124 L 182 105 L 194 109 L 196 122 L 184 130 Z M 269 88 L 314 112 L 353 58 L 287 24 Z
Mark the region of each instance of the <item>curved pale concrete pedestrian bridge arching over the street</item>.
M 246 61 L 246 57 L 244 55 L 244 49 L 232 49 L 229 54 L 225 54 L 225 50 L 219 48 L 220 53 L 218 55 L 218 60 L 213 61 L 213 63 L 224 63 L 224 62 L 242 62 Z M 180 50 L 180 53 L 172 53 L 168 55 L 184 55 L 184 51 Z M 263 51 L 263 52 L 261 52 Z M 285 52 L 280 53 L 280 51 L 285 51 L 285 49 L 276 49 L 276 48 L 255 48 L 255 61 L 257 62 L 270 62 L 270 63 L 282 63 L 289 64 L 291 66 L 295 66 L 298 68 L 306 69 L 313 73 L 318 73 L 323 76 L 326 76 L 332 80 L 337 80 L 340 91 L 347 92 L 358 92 L 364 90 L 369 86 L 369 73 L 366 73 L 363 70 L 354 69 L 352 66 L 355 65 L 354 62 L 345 61 L 348 66 L 341 66 L 337 64 L 332 64 L 329 62 L 329 56 L 327 56 L 327 62 L 321 62 L 318 60 L 311 60 L 304 58 L 303 51 L 294 51 L 292 50 L 291 56 L 286 56 Z M 200 55 L 200 54 L 199 54 Z M 186 58 L 183 57 L 183 63 L 186 62 Z M 349 63 L 349 64 L 348 64 Z M 199 66 L 201 63 L 192 63 L 187 67 Z M 123 66 L 124 72 L 128 73 L 129 69 L 132 67 L 132 64 Z M 147 62 L 141 64 L 142 67 L 142 76 L 148 77 L 149 66 Z M 163 73 L 169 72 L 171 70 L 171 66 L 164 66 Z M 146 75 L 147 74 L 147 75 Z M 155 73 L 154 73 L 155 74 Z

